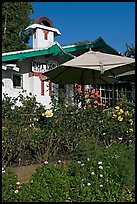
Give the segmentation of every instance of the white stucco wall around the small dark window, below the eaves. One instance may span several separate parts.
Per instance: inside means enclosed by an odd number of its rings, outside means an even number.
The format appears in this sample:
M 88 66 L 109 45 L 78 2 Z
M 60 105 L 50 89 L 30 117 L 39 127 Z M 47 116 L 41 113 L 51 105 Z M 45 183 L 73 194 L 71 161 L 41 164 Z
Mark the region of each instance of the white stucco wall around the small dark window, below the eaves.
M 13 70 L 2 70 L 2 98 L 3 94 L 7 93 L 10 97 L 17 97 L 23 90 L 26 90 L 26 93 L 23 93 L 24 96 L 29 95 L 31 92 L 36 96 L 36 100 L 39 103 L 42 103 L 46 108 L 50 108 L 51 97 L 49 96 L 48 91 L 48 82 L 44 82 L 44 96 L 41 96 L 41 80 L 39 76 L 29 77 L 29 72 L 31 72 L 31 64 L 28 61 L 23 61 L 18 63 L 20 67 L 19 72 Z M 23 87 L 22 88 L 13 88 L 13 74 L 20 73 L 23 76 Z M 20 105 L 20 103 L 18 103 Z

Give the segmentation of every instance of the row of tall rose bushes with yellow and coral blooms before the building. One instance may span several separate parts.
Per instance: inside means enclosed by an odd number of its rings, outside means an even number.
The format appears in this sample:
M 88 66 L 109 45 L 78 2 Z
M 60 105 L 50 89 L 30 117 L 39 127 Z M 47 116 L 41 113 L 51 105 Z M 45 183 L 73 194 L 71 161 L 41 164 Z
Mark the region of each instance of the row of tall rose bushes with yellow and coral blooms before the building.
M 37 103 L 32 95 L 5 96 L 2 104 L 3 163 L 23 165 L 58 154 L 73 157 L 80 143 L 88 141 L 90 144 L 92 140 L 104 147 L 119 142 L 134 144 L 134 105 L 121 98 L 117 106 L 106 109 L 97 103 L 99 94 L 92 91 L 88 97 L 94 98 L 85 99 L 82 95 L 84 100 L 90 100 L 85 101 L 83 108 L 62 102 L 53 103 L 51 110 Z M 15 105 L 17 100 L 22 106 Z

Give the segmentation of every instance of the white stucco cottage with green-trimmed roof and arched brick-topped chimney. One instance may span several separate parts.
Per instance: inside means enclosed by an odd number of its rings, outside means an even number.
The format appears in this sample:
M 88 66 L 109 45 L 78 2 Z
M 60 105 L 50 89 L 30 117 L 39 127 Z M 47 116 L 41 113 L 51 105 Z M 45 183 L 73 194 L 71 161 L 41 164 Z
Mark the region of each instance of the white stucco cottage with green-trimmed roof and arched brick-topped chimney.
M 71 102 L 73 85 L 55 85 L 46 80 L 42 73 L 87 52 L 90 48 L 119 55 L 119 52 L 101 37 L 91 43 L 61 46 L 55 41 L 55 37 L 61 35 L 60 31 L 54 28 L 51 20 L 46 17 L 37 19 L 33 25 L 26 28 L 29 29 L 33 31 L 33 49 L 2 53 L 2 98 L 5 93 L 17 97 L 26 90 L 25 95 L 32 93 L 38 102 L 50 108 L 51 94 L 58 86 L 62 86 L 67 92 L 66 100 Z M 131 94 L 132 85 L 130 87 Z M 107 89 L 104 87 L 101 91 L 102 95 Z M 58 97 L 57 91 L 56 95 Z M 104 99 L 108 100 L 106 96 L 107 94 L 104 94 Z

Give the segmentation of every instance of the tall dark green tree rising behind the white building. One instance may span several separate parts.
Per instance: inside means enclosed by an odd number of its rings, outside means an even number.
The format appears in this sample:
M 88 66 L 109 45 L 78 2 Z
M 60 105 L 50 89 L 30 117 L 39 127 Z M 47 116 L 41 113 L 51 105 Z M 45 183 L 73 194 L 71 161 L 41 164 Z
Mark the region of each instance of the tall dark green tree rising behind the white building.
M 31 2 L 2 2 L 2 51 L 11 52 L 30 48 L 30 32 L 25 28 L 33 21 Z

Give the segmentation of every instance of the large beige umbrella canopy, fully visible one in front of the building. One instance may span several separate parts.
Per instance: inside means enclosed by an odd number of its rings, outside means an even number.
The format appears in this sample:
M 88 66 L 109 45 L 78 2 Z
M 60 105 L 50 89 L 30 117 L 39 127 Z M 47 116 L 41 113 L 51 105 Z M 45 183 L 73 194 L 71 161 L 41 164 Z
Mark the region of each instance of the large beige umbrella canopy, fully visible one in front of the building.
M 44 74 L 58 84 L 96 85 L 115 83 L 113 77 L 134 69 L 132 58 L 89 51 Z

